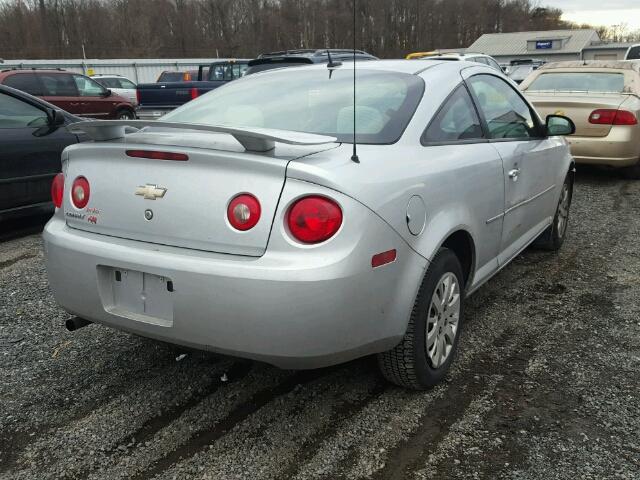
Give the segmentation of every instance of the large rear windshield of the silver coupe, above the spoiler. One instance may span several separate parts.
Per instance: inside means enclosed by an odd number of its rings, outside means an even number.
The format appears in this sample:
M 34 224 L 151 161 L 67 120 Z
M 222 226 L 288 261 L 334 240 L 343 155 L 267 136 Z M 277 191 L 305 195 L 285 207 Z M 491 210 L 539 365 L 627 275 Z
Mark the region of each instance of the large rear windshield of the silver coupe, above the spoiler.
M 424 81 L 415 75 L 358 71 L 357 141 L 398 140 L 423 91 Z M 352 142 L 353 70 L 302 68 L 244 77 L 183 105 L 163 120 L 294 130 Z

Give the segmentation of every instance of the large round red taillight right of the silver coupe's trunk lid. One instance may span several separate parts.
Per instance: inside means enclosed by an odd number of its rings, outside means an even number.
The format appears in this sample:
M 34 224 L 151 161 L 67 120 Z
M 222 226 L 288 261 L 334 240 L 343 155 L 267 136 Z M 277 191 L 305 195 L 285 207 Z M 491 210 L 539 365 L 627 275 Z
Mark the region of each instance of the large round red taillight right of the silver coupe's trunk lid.
M 287 224 L 291 234 L 303 243 L 324 242 L 340 229 L 342 210 L 326 197 L 304 197 L 289 209 Z

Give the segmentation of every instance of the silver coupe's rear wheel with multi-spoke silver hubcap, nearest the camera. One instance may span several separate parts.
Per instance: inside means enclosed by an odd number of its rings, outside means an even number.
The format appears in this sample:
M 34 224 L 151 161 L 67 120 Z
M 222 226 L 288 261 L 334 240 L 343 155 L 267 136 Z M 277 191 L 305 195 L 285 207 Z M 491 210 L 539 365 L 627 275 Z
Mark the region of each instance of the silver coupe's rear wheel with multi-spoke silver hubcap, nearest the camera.
M 427 269 L 404 338 L 378 355 L 387 380 L 425 390 L 444 378 L 462 328 L 463 279 L 458 257 L 447 248 L 440 249 Z

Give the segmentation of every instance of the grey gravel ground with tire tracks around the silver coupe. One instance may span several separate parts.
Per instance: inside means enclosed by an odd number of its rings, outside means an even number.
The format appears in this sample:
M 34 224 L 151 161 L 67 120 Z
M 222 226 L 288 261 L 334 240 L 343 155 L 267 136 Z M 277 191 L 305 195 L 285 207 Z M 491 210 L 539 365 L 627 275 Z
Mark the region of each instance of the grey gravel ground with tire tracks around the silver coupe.
M 0 478 L 639 479 L 639 239 L 640 182 L 579 172 L 563 250 L 471 297 L 447 381 L 422 393 L 370 358 L 291 372 L 69 333 L 39 235 L 6 240 Z

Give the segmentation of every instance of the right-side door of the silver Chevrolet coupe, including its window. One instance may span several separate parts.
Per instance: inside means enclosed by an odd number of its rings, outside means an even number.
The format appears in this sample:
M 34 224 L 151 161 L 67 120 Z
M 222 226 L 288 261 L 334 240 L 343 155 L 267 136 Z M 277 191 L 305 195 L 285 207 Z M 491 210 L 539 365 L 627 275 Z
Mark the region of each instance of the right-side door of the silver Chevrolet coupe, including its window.
M 502 158 L 505 205 L 498 259 L 504 264 L 551 223 L 559 144 L 544 135 L 538 116 L 508 81 L 489 73 L 469 75 L 466 81 L 489 141 Z

